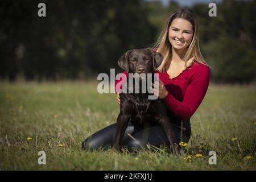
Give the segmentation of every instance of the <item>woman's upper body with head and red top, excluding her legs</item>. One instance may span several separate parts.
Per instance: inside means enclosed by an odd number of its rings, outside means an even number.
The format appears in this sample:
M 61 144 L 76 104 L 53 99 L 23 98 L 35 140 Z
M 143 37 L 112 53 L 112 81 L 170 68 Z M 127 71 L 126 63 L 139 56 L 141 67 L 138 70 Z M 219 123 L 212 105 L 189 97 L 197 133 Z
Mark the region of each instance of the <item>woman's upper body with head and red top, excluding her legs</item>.
M 176 10 L 167 20 L 155 50 L 163 55 L 158 67 L 159 97 L 171 115 L 190 122 L 209 86 L 209 66 L 199 47 L 199 24 L 190 9 Z

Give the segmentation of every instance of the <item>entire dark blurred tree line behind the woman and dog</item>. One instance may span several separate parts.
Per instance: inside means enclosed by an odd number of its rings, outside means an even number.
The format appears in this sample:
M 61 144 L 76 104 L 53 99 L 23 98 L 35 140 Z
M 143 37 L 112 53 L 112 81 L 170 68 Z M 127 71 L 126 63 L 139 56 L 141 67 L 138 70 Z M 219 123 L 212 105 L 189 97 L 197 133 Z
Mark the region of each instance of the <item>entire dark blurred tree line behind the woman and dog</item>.
M 44 18 L 38 3 L 46 3 Z M 0 0 L 0 77 L 79 78 L 118 68 L 128 49 L 150 47 L 179 5 L 171 1 Z M 223 0 L 199 18 L 200 48 L 216 82 L 256 81 L 256 1 Z M 118 68 L 118 71 L 121 69 Z

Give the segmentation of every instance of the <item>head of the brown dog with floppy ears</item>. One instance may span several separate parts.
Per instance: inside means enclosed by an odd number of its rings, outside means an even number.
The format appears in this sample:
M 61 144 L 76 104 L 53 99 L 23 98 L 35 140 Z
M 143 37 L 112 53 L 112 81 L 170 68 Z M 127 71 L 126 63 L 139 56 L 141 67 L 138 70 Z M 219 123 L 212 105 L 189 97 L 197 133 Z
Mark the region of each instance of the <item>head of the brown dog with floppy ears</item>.
M 154 73 L 162 63 L 162 55 L 151 48 L 127 51 L 118 60 L 118 65 L 127 73 Z

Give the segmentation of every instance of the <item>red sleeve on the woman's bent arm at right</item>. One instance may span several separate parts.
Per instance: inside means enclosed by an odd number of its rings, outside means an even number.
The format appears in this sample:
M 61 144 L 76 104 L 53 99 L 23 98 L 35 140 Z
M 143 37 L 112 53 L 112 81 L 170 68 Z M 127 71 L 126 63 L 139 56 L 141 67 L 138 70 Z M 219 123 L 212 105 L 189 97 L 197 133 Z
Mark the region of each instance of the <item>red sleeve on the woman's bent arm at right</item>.
M 185 91 L 183 101 L 177 101 L 169 92 L 164 98 L 168 109 L 176 115 L 177 118 L 187 121 L 195 113 L 197 107 L 201 104 L 209 86 L 209 67 L 202 67 L 192 76 L 191 82 Z

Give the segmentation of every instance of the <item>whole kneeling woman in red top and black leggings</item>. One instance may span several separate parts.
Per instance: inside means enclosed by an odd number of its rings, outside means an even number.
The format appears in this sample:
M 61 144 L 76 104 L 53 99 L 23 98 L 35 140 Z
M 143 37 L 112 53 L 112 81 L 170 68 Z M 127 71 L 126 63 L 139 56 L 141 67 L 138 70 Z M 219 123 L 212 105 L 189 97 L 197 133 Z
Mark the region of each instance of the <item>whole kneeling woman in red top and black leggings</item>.
M 190 118 L 207 93 L 210 73 L 200 52 L 199 26 L 192 10 L 179 9 L 166 20 L 162 34 L 155 44 L 155 51 L 163 56 L 163 62 L 156 71 L 160 81 L 159 90 L 155 92 L 158 92 L 159 98 L 163 99 L 167 107 L 177 140 L 187 143 L 191 137 Z M 117 102 L 120 104 L 119 94 Z M 116 126 L 114 123 L 93 134 L 82 143 L 82 148 L 94 149 L 111 145 Z M 147 144 L 156 147 L 169 144 L 162 127 L 145 127 L 129 122 L 121 146 L 133 151 L 134 148 L 143 148 Z

